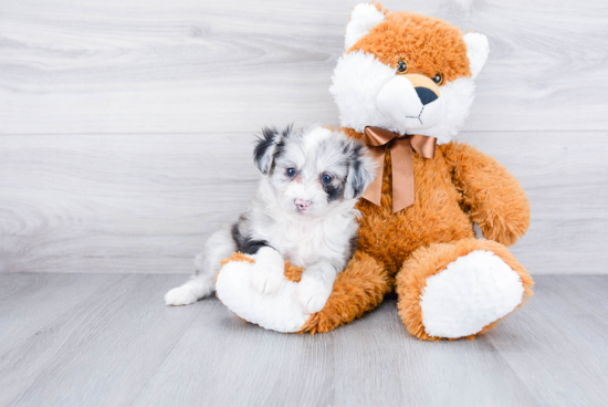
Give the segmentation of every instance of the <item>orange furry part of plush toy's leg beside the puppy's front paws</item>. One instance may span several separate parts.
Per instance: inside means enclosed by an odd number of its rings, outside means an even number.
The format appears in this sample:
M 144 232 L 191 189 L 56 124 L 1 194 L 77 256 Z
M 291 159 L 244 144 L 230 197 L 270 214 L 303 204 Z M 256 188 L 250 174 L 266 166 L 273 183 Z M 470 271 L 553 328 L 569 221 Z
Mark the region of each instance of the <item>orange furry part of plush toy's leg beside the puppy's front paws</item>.
M 304 279 L 304 278 L 303 278 Z M 392 289 L 392 279 L 369 254 L 357 251 L 337 274 L 327 303 L 312 314 L 301 332 L 328 332 L 378 306 Z

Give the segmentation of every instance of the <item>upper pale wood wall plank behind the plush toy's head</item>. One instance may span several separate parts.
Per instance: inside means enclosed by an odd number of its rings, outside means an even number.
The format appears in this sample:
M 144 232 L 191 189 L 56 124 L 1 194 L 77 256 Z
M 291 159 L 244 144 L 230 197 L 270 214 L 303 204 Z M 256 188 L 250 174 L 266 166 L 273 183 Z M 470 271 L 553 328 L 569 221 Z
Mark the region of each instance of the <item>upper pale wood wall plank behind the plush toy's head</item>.
M 0 4 L 0 133 L 337 124 L 327 92 L 358 1 Z M 385 1 L 489 35 L 469 131 L 608 129 L 608 3 Z

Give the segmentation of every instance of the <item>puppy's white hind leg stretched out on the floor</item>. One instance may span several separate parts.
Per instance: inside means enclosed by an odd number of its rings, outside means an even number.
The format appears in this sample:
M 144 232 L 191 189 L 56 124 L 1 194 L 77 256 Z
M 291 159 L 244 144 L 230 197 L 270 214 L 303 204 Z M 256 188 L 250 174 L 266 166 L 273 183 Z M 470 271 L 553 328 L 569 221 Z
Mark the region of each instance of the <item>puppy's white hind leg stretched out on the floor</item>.
M 165 294 L 167 305 L 188 305 L 213 292 L 220 262 L 237 250 L 228 227 L 211 234 L 202 253 L 195 257 L 196 273 L 190 280 Z

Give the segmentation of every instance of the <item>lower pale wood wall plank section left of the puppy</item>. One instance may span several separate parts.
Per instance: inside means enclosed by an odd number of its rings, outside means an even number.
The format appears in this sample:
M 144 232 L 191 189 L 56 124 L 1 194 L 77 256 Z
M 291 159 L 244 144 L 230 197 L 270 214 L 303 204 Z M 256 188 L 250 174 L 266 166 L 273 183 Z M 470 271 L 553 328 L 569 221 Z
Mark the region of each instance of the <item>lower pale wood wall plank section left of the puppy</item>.
M 0 139 L 9 272 L 190 272 L 256 189 L 252 135 Z

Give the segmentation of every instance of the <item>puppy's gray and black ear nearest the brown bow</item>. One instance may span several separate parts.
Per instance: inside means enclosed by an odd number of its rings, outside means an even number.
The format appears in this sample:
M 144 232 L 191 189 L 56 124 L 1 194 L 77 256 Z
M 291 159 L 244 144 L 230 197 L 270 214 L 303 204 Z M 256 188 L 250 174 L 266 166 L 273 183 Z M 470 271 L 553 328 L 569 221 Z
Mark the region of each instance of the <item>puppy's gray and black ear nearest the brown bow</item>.
M 344 188 L 345 199 L 359 198 L 374 180 L 376 164 L 367 154 L 367 148 L 359 140 L 348 140 L 349 166 Z

